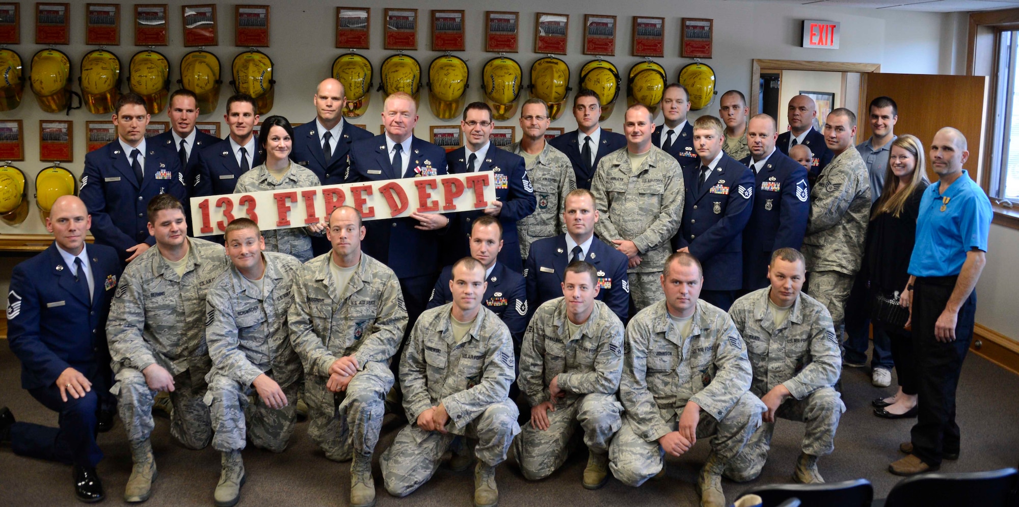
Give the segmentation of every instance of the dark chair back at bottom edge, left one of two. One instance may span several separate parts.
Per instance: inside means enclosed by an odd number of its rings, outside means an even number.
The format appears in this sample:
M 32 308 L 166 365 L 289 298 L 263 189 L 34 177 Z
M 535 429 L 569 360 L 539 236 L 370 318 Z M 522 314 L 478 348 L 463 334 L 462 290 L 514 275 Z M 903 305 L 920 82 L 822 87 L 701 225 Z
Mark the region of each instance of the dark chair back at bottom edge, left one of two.
M 768 485 L 752 488 L 742 495 L 757 495 L 764 507 L 779 507 L 790 499 L 802 507 L 870 507 L 874 488 L 865 478 L 819 485 Z

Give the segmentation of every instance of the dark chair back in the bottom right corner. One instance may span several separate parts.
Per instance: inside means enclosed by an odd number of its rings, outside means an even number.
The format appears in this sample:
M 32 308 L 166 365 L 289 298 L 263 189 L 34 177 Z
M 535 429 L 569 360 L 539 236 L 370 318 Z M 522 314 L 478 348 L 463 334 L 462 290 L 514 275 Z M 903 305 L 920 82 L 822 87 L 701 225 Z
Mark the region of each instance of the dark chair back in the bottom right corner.
M 884 500 L 884 507 L 1010 507 L 1016 505 L 1014 494 L 1017 486 L 1019 471 L 1015 468 L 921 473 L 895 485 Z

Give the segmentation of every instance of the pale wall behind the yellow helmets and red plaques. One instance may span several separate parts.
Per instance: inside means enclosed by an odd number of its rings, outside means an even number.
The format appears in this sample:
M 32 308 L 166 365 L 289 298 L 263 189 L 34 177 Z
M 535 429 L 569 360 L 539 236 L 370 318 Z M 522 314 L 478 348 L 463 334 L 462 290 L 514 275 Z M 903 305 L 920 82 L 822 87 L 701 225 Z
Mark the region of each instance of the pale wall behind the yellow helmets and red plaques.
M 21 40 L 22 44 L 12 46 L 20 54 L 23 61 L 31 61 L 32 56 L 42 46 L 33 44 L 34 25 L 32 10 L 34 4 L 21 2 Z M 194 48 L 181 46 L 181 11 L 180 5 L 196 4 L 194 0 L 165 0 L 169 4 L 169 46 L 157 48 L 171 62 L 171 76 L 175 81 L 179 77 L 180 58 Z M 269 4 L 271 11 L 271 44 L 264 51 L 273 59 L 276 79 L 275 106 L 271 114 L 287 116 L 296 122 L 306 122 L 314 117 L 312 94 L 315 84 L 329 75 L 333 59 L 341 53 L 334 48 L 335 40 L 335 3 L 326 4 L 312 0 L 262 0 L 256 3 Z M 365 2 L 368 3 L 368 2 Z M 352 2 L 357 5 L 358 2 Z M 364 3 L 362 3 L 364 4 Z M 229 68 L 233 57 L 243 48 L 233 47 L 233 4 L 218 4 L 219 41 L 217 47 L 208 48 L 219 56 L 224 68 Z M 418 58 L 422 66 L 427 68 L 431 60 L 439 53 L 430 51 L 429 8 L 421 8 L 423 4 L 414 0 L 389 0 L 384 5 L 372 7 L 371 13 L 371 46 L 373 49 L 363 53 L 375 64 L 376 71 L 382 60 L 393 51 L 382 49 L 382 16 L 383 7 L 418 7 L 419 8 L 419 50 L 409 54 Z M 465 9 L 469 31 L 468 51 L 460 56 L 468 59 L 471 68 L 471 88 L 468 91 L 469 100 L 481 98 L 479 72 L 484 63 L 495 56 L 483 52 L 483 18 L 484 4 L 469 0 L 445 0 L 442 8 Z M 717 76 L 716 90 L 725 92 L 730 89 L 750 89 L 751 59 L 803 59 L 826 60 L 841 62 L 879 63 L 884 72 L 910 73 L 955 73 L 960 71 L 965 61 L 966 17 L 965 14 L 941 14 L 907 12 L 857 8 L 833 8 L 810 5 L 788 5 L 770 2 L 740 2 L 715 0 L 668 1 L 668 0 L 638 0 L 619 2 L 616 0 L 561 0 L 549 4 L 541 0 L 519 0 L 505 2 L 488 8 L 500 10 L 517 10 L 521 12 L 520 53 L 509 55 L 516 58 L 525 69 L 539 58 L 533 53 L 534 13 L 537 11 L 572 13 L 570 17 L 569 55 L 562 56 L 574 71 L 572 86 L 576 88 L 576 71 L 591 56 L 582 54 L 584 12 L 599 14 L 614 14 L 619 16 L 616 35 L 616 56 L 608 60 L 615 63 L 621 72 L 629 68 L 640 58 L 630 56 L 632 16 L 655 15 L 664 16 L 665 24 L 665 57 L 656 59 L 668 72 L 669 79 L 675 79 L 680 68 L 690 59 L 679 58 L 679 24 L 681 17 L 708 17 L 714 19 L 714 58 L 704 60 L 714 68 Z M 121 46 L 108 48 L 120 57 L 126 65 L 130 57 L 144 49 L 132 46 L 132 4 L 121 3 Z M 70 9 L 70 46 L 59 47 L 66 52 L 73 62 L 72 75 L 74 90 L 77 91 L 76 78 L 79 73 L 82 57 L 91 49 L 82 44 L 85 40 L 84 15 L 85 3 L 72 2 Z M 841 48 L 838 50 L 819 50 L 800 48 L 801 20 L 832 19 L 842 22 Z M 24 71 L 28 72 L 28 65 Z M 218 111 L 202 115 L 200 121 L 223 121 L 225 99 L 231 93 L 226 82 L 229 77 L 223 77 L 222 99 Z M 374 79 L 375 84 L 378 78 Z M 525 75 L 525 82 L 530 79 Z M 126 86 L 123 87 L 126 90 Z M 427 92 L 424 92 L 427 93 Z M 371 107 L 356 123 L 367 123 L 368 129 L 377 132 L 379 113 L 382 103 L 381 93 L 372 96 Z M 436 120 L 428 110 L 427 97 L 422 97 L 419 135 L 427 136 L 428 126 L 432 124 L 449 123 Z M 625 101 L 624 97 L 620 101 Z M 717 114 L 717 102 L 704 112 Z M 624 107 L 616 107 L 615 113 L 606 121 L 606 127 L 620 131 L 622 129 Z M 696 116 L 696 114 L 694 114 Z M 20 107 L 13 111 L 0 113 L 0 119 L 22 119 L 25 127 L 24 152 L 25 161 L 15 165 L 28 173 L 34 181 L 35 174 L 48 164 L 40 162 L 38 147 L 38 125 L 40 119 L 70 119 L 74 125 L 74 162 L 65 164 L 76 174 L 81 174 L 85 161 L 85 122 L 88 120 L 106 119 L 100 115 L 92 115 L 84 109 L 71 112 L 70 116 L 63 114 L 43 113 L 36 104 L 35 97 L 25 90 L 25 96 Z M 160 115 L 154 120 L 165 120 Z M 506 122 L 514 124 L 516 122 Z M 225 127 L 225 125 L 223 125 Z M 519 126 L 519 125 L 518 125 Z M 575 126 L 569 113 L 554 122 L 552 126 L 572 129 Z M 423 132 L 423 133 L 422 133 Z M 519 134 L 519 132 L 518 132 Z M 30 198 L 34 185 L 30 187 Z M 44 233 L 45 228 L 39 220 L 33 204 L 29 219 L 18 227 L 0 224 L 0 233 Z M 0 279 L 4 285 L 6 278 Z M 1019 335 L 1019 333 L 1017 333 Z

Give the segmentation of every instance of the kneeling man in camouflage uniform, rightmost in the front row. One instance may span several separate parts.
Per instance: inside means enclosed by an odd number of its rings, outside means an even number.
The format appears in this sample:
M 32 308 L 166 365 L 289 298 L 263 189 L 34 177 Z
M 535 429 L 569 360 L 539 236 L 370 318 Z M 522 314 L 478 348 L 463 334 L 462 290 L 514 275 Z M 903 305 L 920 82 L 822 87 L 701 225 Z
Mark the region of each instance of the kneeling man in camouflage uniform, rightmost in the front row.
M 795 251 L 783 248 L 786 249 Z M 791 259 L 786 261 L 772 257 L 769 270 L 771 286 L 737 299 L 729 311 L 736 329 L 747 343 L 754 372 L 750 392 L 760 397 L 769 409 L 775 406 L 773 412 L 765 413 L 764 424 L 757 429 L 743 451 L 727 465 L 726 475 L 734 481 L 751 481 L 760 474 L 767 459 L 774 417 L 777 416 L 806 424 L 794 480 L 823 483 L 817 471 L 817 457 L 830 454 L 835 449 L 836 429 L 846 409 L 834 388 L 842 373 L 842 357 L 827 308 L 813 297 L 801 293 L 800 287 L 795 287 L 795 292 L 789 291 L 795 293 L 792 307 L 775 327 L 771 308 L 775 298 L 771 297 L 769 304 L 769 297 L 784 290 L 783 284 L 791 278 L 785 276 L 786 273 L 774 276 L 776 263 L 781 263 L 779 270 L 798 270 L 795 274 L 799 276 L 799 283 L 803 281 L 803 262 Z M 777 287 L 776 283 L 780 284 Z M 787 306 L 786 302 L 782 306 Z M 768 418 L 770 420 L 766 420 Z

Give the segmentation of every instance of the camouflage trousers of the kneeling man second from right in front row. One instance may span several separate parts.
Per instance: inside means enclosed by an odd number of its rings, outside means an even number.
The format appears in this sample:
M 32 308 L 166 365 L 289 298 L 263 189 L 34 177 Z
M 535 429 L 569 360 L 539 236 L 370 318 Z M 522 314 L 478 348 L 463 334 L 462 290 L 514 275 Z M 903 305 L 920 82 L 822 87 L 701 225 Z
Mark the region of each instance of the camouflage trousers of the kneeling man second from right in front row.
M 739 454 L 760 426 L 764 410 L 766 407 L 760 399 L 749 392 L 743 393 L 721 420 L 701 411 L 697 438 L 713 436 L 709 442 L 711 450 L 722 462 L 729 461 Z M 666 425 L 675 431 L 679 428 L 679 415 L 675 415 Z M 620 482 L 636 487 L 661 471 L 665 451 L 657 440 L 647 442 L 637 436 L 632 424 L 629 417 L 624 417 L 623 428 L 615 434 L 612 445 L 608 448 L 608 468 Z

